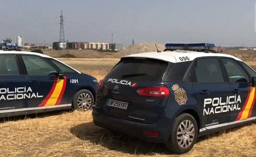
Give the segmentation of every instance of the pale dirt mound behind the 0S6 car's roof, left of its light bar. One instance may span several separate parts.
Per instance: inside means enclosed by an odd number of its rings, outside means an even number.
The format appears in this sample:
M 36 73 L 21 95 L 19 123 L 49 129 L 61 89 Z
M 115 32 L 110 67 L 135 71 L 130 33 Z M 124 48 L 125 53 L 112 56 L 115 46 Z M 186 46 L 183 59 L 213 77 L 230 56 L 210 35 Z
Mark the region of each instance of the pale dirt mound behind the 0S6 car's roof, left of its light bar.
M 165 45 L 162 44 L 156 44 L 158 47 L 158 50 L 163 51 L 165 49 Z M 140 44 L 134 44 L 130 45 L 127 48 L 118 51 L 115 55 L 117 56 L 125 56 L 125 55 L 131 55 L 135 53 L 144 53 L 144 52 L 156 52 L 155 43 L 140 43 Z

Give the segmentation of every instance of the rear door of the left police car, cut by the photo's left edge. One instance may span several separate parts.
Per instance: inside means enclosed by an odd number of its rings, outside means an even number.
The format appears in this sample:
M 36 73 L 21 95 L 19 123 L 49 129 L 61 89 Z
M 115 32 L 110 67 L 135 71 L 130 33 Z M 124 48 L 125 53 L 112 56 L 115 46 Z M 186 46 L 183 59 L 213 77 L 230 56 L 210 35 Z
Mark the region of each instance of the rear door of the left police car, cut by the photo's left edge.
M 27 80 L 16 55 L 0 55 L 0 117 L 10 112 L 27 111 Z

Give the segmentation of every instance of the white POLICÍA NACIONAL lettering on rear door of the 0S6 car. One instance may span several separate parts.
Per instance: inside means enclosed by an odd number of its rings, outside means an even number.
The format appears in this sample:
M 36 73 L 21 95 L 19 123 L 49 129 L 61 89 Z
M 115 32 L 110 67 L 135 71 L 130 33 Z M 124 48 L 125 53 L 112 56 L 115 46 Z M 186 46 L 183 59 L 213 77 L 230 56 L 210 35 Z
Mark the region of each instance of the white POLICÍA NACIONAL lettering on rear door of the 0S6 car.
M 204 99 L 203 103 L 203 115 L 241 110 L 241 108 L 238 106 L 239 103 L 241 103 L 240 95 L 231 95 L 224 98 L 207 98 Z

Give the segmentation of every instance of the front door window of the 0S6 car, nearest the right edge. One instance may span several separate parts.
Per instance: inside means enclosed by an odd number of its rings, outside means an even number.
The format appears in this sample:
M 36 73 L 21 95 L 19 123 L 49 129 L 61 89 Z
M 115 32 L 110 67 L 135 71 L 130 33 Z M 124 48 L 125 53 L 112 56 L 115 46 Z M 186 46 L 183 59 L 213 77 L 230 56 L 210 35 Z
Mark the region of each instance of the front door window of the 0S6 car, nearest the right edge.
M 222 58 L 222 61 L 226 68 L 229 82 L 249 82 L 249 76 L 238 62 L 226 58 Z

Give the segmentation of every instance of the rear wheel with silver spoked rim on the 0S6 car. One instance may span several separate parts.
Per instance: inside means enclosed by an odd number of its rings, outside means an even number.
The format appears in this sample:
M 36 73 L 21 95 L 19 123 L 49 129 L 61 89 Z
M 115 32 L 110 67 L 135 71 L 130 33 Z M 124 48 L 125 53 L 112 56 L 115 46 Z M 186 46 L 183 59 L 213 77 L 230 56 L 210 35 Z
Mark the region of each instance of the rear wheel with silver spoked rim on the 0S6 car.
M 169 141 L 165 143 L 166 148 L 177 154 L 187 153 L 197 141 L 197 130 L 197 122 L 192 115 L 179 115 L 171 126 Z

